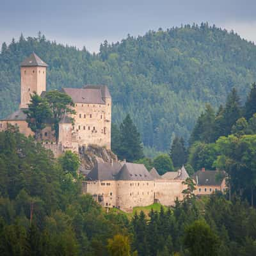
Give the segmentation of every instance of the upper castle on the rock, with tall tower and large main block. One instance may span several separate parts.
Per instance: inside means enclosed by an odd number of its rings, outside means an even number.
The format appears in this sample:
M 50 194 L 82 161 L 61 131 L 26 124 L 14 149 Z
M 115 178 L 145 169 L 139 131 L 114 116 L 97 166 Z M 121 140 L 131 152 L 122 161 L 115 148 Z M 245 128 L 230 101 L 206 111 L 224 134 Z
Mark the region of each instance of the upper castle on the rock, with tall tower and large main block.
M 20 64 L 20 106 L 19 110 L 0 120 L 0 131 L 8 124 L 19 127 L 26 136 L 34 132 L 28 127 L 24 109 L 28 108 L 31 93 L 44 97 L 46 91 L 47 64 L 34 52 Z M 90 144 L 111 147 L 111 95 L 104 85 L 86 85 L 83 88 L 62 88 L 73 102 L 75 115 L 63 116 L 59 124 L 59 138 L 56 141 L 52 124 L 46 124 L 40 138 L 44 146 L 52 150 L 55 156 L 65 150 L 78 152 L 78 148 Z M 74 118 L 74 125 L 70 120 Z

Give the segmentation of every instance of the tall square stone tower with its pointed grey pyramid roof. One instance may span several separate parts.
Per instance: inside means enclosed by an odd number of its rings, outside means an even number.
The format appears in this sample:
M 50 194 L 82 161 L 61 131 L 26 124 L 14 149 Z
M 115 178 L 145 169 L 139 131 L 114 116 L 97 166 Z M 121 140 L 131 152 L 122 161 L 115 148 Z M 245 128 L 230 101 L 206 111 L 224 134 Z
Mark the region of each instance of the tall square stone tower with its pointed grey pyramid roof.
M 28 108 L 30 95 L 46 90 L 47 64 L 33 52 L 20 64 L 20 108 Z

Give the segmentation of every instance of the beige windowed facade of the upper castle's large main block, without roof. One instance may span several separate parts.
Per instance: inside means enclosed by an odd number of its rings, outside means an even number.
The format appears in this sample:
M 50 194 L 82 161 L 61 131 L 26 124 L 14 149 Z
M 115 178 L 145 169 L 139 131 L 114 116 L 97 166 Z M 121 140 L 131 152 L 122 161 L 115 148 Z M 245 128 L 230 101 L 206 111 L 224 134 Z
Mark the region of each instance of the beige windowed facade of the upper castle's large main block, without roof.
M 111 147 L 111 99 L 106 104 L 81 104 L 75 106 L 73 115 L 79 145 L 95 144 Z

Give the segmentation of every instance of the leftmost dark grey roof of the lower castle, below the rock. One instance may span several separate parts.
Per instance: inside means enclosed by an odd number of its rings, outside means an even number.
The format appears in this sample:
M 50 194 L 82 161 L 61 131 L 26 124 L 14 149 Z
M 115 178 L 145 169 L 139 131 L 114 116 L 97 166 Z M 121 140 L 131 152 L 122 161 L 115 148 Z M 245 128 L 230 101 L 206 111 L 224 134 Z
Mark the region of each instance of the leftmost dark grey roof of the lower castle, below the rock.
M 98 162 L 92 171 L 88 173 L 87 178 L 89 180 L 115 180 L 116 173 L 121 167 L 122 164 L 116 162 L 113 164 Z

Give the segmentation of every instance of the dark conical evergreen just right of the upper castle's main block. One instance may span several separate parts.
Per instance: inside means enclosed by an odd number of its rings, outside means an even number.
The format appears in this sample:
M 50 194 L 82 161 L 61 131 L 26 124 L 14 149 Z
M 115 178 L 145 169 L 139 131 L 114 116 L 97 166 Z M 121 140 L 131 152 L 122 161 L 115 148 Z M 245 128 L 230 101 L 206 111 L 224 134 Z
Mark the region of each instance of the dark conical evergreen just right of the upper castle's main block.
M 120 143 L 118 155 L 121 159 L 132 162 L 144 157 L 140 133 L 129 114 L 120 125 Z

